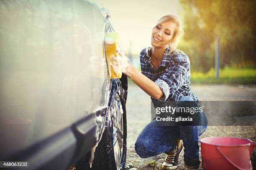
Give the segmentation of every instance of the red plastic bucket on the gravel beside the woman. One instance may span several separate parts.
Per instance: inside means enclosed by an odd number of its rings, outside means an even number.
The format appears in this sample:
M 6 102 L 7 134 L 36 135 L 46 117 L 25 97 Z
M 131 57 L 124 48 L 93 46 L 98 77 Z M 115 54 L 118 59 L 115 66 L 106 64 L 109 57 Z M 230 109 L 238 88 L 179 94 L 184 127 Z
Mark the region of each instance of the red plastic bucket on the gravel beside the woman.
M 244 138 L 210 137 L 200 140 L 204 170 L 252 170 L 256 143 Z

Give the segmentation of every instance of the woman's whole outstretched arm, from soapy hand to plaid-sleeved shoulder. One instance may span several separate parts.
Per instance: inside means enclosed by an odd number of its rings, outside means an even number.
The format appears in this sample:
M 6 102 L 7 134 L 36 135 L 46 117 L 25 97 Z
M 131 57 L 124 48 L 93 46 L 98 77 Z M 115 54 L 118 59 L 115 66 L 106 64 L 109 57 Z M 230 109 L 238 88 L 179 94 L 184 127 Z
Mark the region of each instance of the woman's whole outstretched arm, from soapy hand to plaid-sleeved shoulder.
M 177 53 L 175 63 L 166 67 L 163 75 L 155 82 L 136 70 L 131 64 L 128 64 L 127 57 L 122 52 L 116 51 L 122 58 L 123 62 L 127 63 L 123 67 L 123 72 L 135 82 L 142 90 L 156 100 L 166 101 L 170 94 L 179 90 L 189 77 L 189 59 L 184 53 Z

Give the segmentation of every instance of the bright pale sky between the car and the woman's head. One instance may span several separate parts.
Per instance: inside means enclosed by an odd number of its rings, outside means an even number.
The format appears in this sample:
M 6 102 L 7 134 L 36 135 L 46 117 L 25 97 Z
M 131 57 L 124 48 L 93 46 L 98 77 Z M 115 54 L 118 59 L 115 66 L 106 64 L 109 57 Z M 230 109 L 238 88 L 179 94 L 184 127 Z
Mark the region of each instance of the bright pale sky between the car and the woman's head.
M 157 20 L 168 14 L 182 19 L 179 0 L 91 0 L 110 12 L 111 23 L 128 53 L 139 54 L 151 46 L 151 32 Z

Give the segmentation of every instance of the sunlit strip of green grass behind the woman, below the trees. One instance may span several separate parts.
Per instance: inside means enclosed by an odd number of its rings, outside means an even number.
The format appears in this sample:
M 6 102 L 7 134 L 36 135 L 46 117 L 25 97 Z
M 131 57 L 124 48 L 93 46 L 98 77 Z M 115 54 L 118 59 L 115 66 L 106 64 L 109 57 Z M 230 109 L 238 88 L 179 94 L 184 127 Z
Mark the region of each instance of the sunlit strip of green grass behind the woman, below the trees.
M 220 69 L 219 78 L 215 77 L 215 69 L 207 73 L 191 72 L 190 82 L 193 84 L 230 84 L 230 85 L 256 85 L 256 68 L 225 67 Z M 134 84 L 128 79 L 129 84 Z

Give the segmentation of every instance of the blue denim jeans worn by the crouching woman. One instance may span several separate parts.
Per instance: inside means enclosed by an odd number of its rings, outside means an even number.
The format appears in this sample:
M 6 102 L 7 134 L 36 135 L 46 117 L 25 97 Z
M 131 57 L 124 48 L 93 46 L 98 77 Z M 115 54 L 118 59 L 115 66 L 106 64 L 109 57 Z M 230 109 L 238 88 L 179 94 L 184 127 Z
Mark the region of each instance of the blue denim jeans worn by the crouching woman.
M 189 96 L 184 96 L 179 101 L 194 100 Z M 136 153 L 141 158 L 168 153 L 176 148 L 177 140 L 182 140 L 185 163 L 189 159 L 199 160 L 198 140 L 207 128 L 207 118 L 203 112 L 201 116 L 202 120 L 205 120 L 203 126 L 156 126 L 152 122 L 148 123 L 136 140 Z

